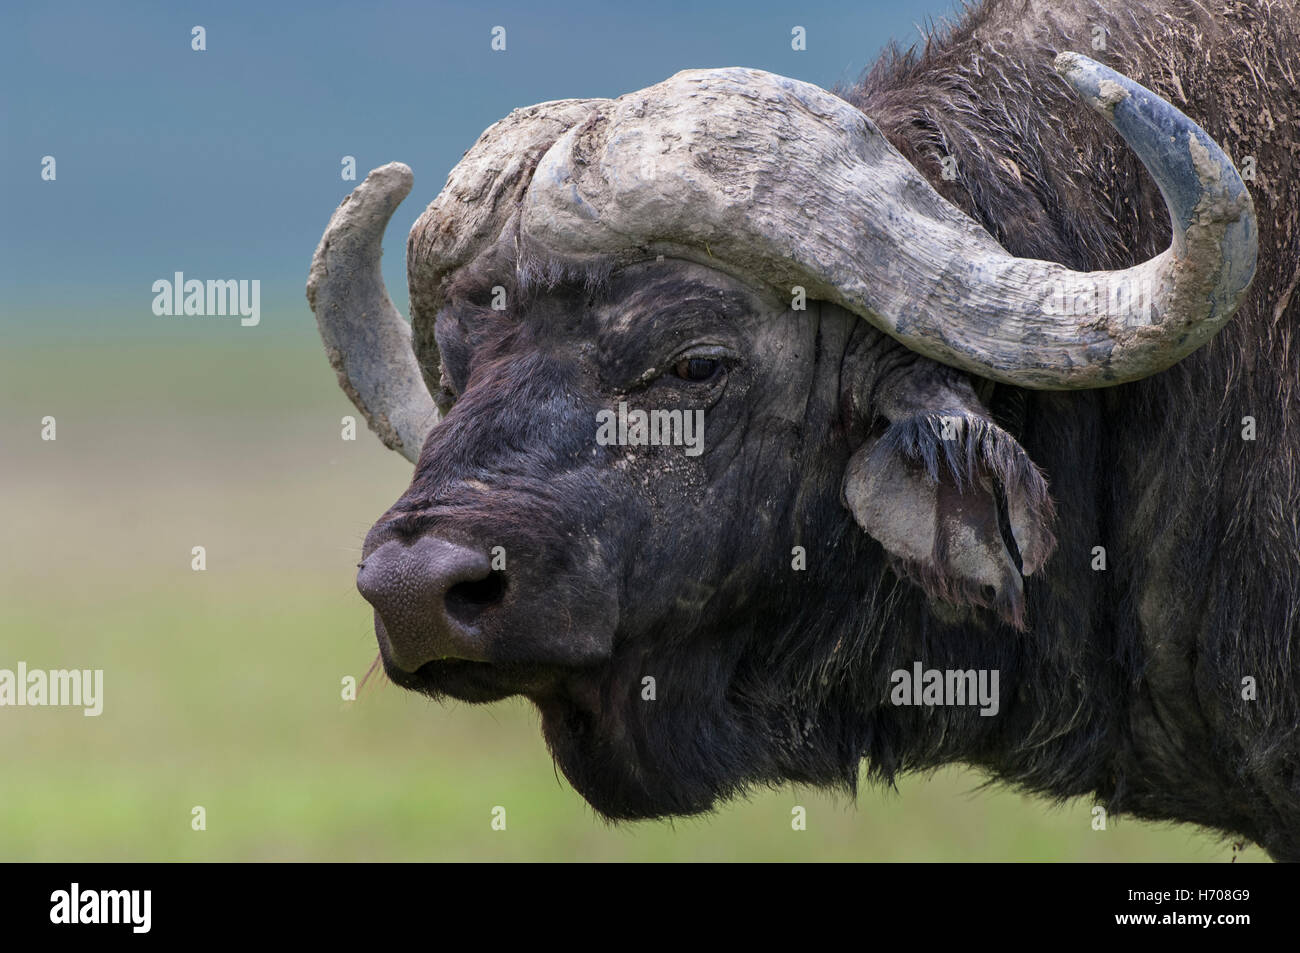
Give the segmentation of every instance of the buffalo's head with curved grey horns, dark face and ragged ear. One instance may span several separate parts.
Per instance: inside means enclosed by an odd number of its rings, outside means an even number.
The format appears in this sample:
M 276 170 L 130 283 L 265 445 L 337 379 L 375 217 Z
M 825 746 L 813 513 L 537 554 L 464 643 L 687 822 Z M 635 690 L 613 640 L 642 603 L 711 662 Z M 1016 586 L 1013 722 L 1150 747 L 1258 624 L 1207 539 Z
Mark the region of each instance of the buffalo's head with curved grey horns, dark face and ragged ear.
M 1009 255 L 861 112 L 757 70 L 491 126 L 412 229 L 410 329 L 378 261 L 411 173 L 372 172 L 308 298 L 416 465 L 358 576 L 389 677 L 526 696 L 615 818 L 888 762 L 906 725 L 863 718 L 888 672 L 927 638 L 959 668 L 997 658 L 1053 551 L 989 382 L 1152 374 L 1253 273 L 1251 202 L 1209 137 L 1091 60 L 1057 69 L 1169 205 L 1170 248 L 1126 272 Z M 1101 304 L 1052 306 L 1080 296 Z

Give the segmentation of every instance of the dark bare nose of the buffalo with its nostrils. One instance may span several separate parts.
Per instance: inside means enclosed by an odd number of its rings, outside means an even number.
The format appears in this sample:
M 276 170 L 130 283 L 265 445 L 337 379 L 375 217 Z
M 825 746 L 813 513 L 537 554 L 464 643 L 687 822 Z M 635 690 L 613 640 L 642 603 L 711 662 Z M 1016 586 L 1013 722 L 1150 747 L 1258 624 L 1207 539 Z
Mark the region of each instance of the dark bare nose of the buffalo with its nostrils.
M 428 536 L 410 546 L 390 540 L 361 563 L 356 588 L 403 671 L 442 658 L 488 660 L 477 621 L 500 602 L 506 580 L 482 553 Z

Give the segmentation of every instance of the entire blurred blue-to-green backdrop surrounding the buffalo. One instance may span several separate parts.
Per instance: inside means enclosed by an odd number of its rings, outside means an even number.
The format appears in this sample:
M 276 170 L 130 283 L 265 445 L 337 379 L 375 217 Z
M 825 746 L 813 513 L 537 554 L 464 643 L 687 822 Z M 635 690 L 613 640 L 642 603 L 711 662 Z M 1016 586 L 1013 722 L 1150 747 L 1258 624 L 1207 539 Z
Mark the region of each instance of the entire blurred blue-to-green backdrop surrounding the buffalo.
M 355 411 L 303 293 L 339 200 L 373 166 L 415 170 L 385 257 L 406 312 L 411 224 L 512 108 L 694 66 L 848 83 L 890 38 L 911 44 L 952 13 L 944 0 L 6 4 L 0 668 L 103 668 L 105 697 L 99 718 L 0 709 L 0 861 L 1232 859 L 1190 827 L 1093 831 L 1087 801 L 1052 806 L 962 770 L 866 787 L 855 803 L 786 787 L 610 827 L 556 774 L 523 702 L 438 706 L 382 673 L 341 697 L 376 655 L 352 581 L 361 538 L 410 467 L 364 424 L 339 436 Z M 260 324 L 155 316 L 152 282 L 174 272 L 259 280 Z M 790 829 L 794 805 L 806 831 Z

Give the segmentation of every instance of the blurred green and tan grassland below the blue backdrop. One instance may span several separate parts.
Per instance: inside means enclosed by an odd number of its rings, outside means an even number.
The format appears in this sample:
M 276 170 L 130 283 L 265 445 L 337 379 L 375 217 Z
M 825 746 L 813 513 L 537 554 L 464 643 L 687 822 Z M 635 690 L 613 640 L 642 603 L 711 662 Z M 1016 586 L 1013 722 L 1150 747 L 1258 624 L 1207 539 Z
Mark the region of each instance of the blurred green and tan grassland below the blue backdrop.
M 1195 828 L 1093 831 L 1088 801 L 959 768 L 611 827 L 524 702 L 439 706 L 382 673 L 343 702 L 376 654 L 360 542 L 410 467 L 364 425 L 339 438 L 352 408 L 306 308 L 157 321 L 0 348 L 0 667 L 105 672 L 99 718 L 0 709 L 0 861 L 1232 859 Z

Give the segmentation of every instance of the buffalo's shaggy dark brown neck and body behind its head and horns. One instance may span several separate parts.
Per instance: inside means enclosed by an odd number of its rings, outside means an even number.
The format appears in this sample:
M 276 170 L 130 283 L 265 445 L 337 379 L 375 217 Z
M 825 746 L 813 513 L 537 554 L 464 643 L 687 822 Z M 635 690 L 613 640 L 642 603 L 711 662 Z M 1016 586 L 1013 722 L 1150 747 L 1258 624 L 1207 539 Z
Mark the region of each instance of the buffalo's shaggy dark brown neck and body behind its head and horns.
M 1011 398 L 1066 541 L 1028 580 L 1032 616 L 1050 627 L 1013 663 L 1020 715 L 1008 720 L 1026 731 L 996 744 L 937 719 L 876 731 L 874 772 L 956 757 L 1024 789 L 1095 792 L 1112 811 L 1239 831 L 1300 859 L 1297 31 L 1286 1 L 1228 0 L 1212 16 L 1184 0 L 991 0 L 838 91 L 1011 254 L 1126 268 L 1167 246 L 1169 218 L 1138 159 L 1054 75 L 1056 52 L 1082 51 L 1196 118 L 1239 166 L 1252 156 L 1260 225 L 1249 296 L 1208 346 L 1135 384 Z M 997 391 L 994 403 L 1014 389 Z

